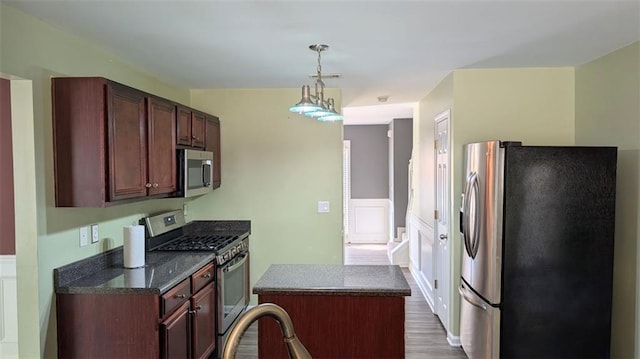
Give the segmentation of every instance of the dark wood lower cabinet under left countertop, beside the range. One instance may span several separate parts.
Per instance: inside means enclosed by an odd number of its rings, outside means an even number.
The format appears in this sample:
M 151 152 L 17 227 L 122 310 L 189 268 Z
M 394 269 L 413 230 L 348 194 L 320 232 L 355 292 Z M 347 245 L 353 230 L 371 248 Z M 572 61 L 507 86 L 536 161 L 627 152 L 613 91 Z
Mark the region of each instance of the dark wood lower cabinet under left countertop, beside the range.
M 58 357 L 208 358 L 217 341 L 214 271 L 204 266 L 162 295 L 58 293 Z

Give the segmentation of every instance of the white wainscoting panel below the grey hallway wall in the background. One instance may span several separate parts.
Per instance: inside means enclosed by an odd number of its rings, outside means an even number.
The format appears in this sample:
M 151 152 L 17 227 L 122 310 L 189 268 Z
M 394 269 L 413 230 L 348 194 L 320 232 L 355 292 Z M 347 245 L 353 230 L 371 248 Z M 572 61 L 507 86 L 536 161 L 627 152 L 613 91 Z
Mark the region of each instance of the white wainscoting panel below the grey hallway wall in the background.
M 349 242 L 389 241 L 389 199 L 349 200 Z

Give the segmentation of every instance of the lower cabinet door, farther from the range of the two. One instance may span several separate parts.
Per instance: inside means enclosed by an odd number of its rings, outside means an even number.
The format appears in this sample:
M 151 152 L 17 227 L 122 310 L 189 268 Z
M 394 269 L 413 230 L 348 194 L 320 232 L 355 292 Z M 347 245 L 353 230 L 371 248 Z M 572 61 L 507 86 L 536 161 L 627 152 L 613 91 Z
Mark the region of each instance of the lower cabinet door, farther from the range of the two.
M 160 358 L 189 358 L 189 302 L 160 323 Z

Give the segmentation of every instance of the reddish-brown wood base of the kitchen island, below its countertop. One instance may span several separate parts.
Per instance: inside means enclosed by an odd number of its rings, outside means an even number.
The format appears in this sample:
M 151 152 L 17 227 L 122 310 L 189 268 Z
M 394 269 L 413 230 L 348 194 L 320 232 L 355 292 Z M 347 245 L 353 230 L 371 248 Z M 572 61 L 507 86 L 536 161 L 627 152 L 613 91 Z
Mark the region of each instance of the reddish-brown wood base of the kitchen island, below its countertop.
M 289 313 L 313 358 L 404 358 L 404 297 L 262 294 Z M 258 355 L 288 358 L 277 322 L 258 322 Z

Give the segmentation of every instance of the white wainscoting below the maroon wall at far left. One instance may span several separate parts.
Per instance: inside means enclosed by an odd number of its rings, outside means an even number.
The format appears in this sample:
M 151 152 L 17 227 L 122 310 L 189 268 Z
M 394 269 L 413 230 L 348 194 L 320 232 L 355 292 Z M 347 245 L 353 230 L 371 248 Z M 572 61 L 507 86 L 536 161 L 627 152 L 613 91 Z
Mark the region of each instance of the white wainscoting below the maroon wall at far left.
M 0 256 L 0 358 L 18 358 L 16 256 Z

